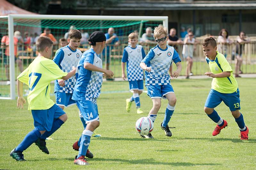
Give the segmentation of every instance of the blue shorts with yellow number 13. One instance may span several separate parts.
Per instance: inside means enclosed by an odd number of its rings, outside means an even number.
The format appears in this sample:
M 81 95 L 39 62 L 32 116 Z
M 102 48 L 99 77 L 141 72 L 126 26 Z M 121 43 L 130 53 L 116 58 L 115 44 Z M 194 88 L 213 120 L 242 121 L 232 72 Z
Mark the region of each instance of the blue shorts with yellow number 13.
M 239 97 L 239 89 L 237 89 L 234 93 L 220 93 L 211 89 L 204 107 L 215 108 L 223 101 L 229 107 L 230 111 L 240 110 L 241 107 Z

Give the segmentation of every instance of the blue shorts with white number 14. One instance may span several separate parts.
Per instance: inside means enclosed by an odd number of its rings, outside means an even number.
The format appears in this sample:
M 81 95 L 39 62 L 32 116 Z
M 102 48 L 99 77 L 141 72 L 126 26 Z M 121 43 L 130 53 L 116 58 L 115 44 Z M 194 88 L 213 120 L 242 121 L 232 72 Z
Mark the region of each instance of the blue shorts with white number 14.
M 76 105 L 82 114 L 80 117 L 84 117 L 86 124 L 93 121 L 99 121 L 97 104 L 94 104 L 89 100 L 77 100 Z

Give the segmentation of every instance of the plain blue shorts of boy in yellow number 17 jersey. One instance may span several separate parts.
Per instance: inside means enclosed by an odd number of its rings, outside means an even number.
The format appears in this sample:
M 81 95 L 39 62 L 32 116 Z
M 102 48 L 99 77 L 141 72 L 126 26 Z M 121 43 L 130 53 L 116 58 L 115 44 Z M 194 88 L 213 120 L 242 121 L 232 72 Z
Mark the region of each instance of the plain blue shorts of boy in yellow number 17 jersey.
M 46 110 L 31 110 L 34 118 L 34 126 L 39 131 L 51 131 L 52 123 L 65 112 L 56 104 Z

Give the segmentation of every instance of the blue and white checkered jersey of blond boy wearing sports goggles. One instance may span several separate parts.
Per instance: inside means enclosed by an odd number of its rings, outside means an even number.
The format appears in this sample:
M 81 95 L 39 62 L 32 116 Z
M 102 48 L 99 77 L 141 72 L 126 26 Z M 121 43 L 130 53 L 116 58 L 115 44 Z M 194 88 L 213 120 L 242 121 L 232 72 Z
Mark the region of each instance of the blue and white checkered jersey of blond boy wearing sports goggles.
M 164 50 L 158 45 L 151 48 L 146 57 L 141 61 L 147 67 L 151 67 L 151 72 L 145 71 L 145 85 L 171 84 L 168 70 L 172 61 L 174 63 L 181 61 L 179 54 L 172 46 L 166 46 Z

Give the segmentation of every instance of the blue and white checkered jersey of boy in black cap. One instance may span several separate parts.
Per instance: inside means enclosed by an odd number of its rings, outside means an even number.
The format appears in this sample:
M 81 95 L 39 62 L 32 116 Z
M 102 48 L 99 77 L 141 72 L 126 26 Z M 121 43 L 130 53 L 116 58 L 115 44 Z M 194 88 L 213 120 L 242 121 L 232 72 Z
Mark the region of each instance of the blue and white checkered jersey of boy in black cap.
M 84 68 L 84 63 L 91 63 L 102 68 L 102 61 L 93 48 L 85 51 L 76 68 L 76 85 L 72 96 L 73 100 L 89 100 L 97 104 L 100 96 L 103 75 L 101 72 L 90 71 Z

